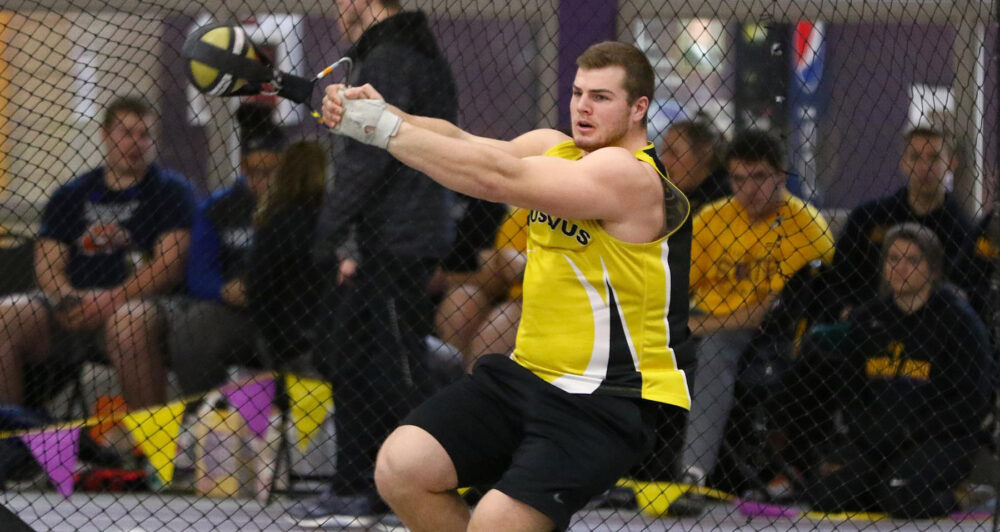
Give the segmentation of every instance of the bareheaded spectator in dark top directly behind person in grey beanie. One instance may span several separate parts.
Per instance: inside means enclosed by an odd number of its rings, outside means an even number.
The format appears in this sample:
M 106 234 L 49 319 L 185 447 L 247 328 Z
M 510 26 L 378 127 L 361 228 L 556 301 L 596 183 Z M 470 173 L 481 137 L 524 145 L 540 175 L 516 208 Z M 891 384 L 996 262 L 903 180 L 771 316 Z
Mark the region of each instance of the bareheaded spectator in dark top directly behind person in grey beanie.
M 957 159 L 944 134 L 936 129 L 912 129 L 904 141 L 899 169 L 907 185 L 851 211 L 837 240 L 833 263 L 849 305 L 869 301 L 878 293 L 882 240 L 889 227 L 903 222 L 916 222 L 934 231 L 945 249 L 945 277 L 964 284 L 956 277 L 959 271 L 954 265 L 963 260 L 969 248 L 973 225 L 946 185 Z

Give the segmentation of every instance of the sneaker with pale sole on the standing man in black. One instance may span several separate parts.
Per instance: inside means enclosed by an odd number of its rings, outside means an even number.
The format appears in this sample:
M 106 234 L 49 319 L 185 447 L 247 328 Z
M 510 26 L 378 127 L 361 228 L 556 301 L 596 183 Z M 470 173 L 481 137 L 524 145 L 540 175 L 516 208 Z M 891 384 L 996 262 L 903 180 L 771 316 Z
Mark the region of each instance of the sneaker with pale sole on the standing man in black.
M 325 491 L 300 501 L 287 511 L 287 518 L 304 528 L 372 527 L 389 507 L 375 494 L 336 495 Z

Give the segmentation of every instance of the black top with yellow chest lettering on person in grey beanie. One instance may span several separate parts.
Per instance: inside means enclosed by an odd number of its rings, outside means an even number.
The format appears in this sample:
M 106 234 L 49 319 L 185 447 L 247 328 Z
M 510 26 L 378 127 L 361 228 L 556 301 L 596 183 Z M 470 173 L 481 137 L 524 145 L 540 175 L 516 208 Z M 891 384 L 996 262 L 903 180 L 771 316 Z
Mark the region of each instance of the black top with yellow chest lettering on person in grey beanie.
M 864 304 L 848 320 L 844 395 L 848 425 L 869 449 L 963 438 L 989 408 L 993 373 L 986 328 L 951 288 L 911 314 L 891 300 Z

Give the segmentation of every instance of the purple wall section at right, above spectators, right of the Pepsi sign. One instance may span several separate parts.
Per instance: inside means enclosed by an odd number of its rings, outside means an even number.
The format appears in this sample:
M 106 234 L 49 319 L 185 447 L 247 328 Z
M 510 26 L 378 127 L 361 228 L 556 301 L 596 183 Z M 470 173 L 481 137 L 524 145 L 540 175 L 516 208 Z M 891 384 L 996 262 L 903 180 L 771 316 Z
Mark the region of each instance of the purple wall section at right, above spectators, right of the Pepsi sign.
M 988 36 L 993 57 L 996 32 Z M 910 86 L 951 86 L 955 32 L 946 26 L 832 25 L 827 68 L 830 101 L 820 124 L 824 205 L 853 207 L 905 184 L 898 171 Z M 996 179 L 996 65 L 987 69 L 987 178 Z

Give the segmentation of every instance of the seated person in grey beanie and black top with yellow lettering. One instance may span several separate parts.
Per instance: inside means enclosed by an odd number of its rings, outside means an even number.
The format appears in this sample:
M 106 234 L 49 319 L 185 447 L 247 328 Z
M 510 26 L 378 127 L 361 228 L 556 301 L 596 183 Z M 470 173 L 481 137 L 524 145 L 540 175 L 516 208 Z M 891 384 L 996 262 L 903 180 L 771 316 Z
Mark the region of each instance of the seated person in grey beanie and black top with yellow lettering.
M 972 471 L 989 409 L 989 340 L 945 284 L 932 230 L 890 228 L 882 256 L 881 295 L 856 307 L 839 335 L 825 333 L 824 380 L 836 386 L 848 443 L 816 467 L 803 499 L 827 512 L 945 516 L 960 509 L 953 488 Z

